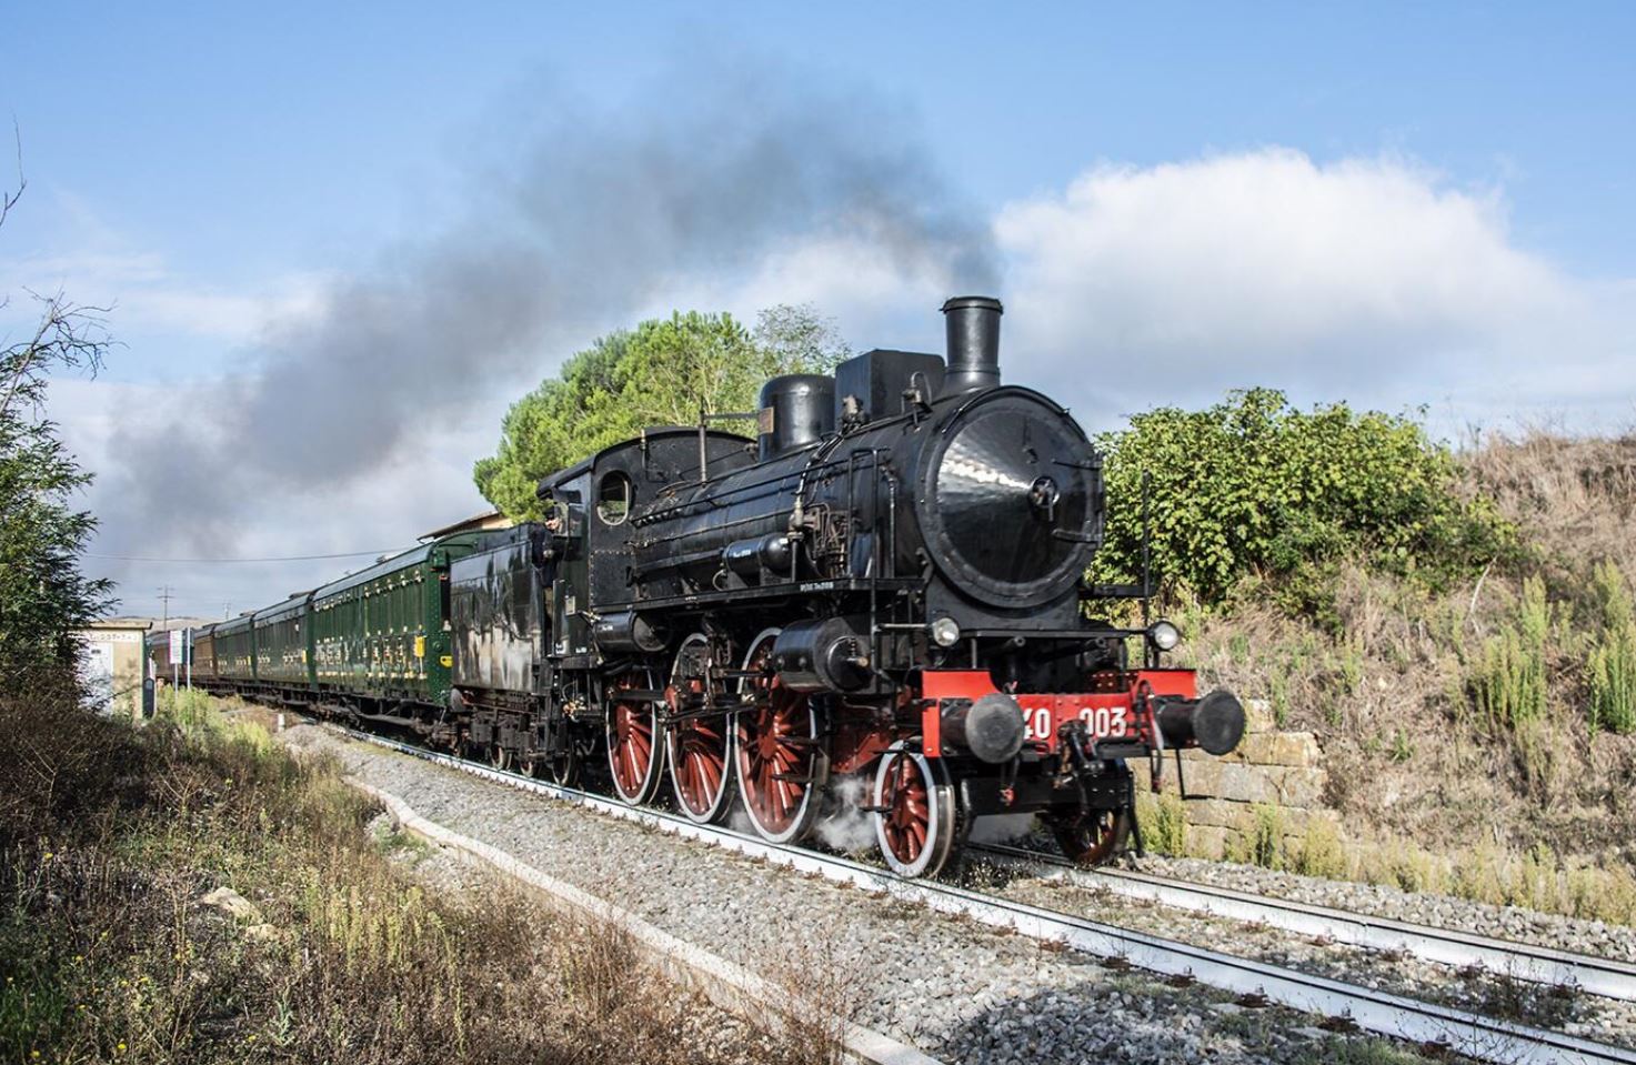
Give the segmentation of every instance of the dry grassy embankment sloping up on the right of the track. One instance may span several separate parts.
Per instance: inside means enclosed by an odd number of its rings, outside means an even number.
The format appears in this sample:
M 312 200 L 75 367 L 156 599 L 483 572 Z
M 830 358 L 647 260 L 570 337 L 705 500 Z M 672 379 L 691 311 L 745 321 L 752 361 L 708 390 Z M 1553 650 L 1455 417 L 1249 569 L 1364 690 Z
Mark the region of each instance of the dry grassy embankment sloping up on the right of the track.
M 1247 816 L 1235 857 L 1490 903 L 1636 921 L 1636 437 L 1490 438 L 1461 455 L 1523 556 L 1427 592 L 1343 568 L 1338 625 L 1183 607 L 1209 684 L 1312 730 L 1342 831 Z M 1186 852 L 1180 802 L 1150 841 Z

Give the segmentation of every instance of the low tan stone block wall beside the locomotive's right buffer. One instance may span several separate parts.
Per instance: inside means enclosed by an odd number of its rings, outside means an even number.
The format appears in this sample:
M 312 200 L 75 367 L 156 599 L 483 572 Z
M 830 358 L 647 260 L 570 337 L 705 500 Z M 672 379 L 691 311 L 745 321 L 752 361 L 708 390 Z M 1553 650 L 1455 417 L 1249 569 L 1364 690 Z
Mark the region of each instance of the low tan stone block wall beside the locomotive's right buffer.
M 1299 847 L 1314 820 L 1338 828 L 1335 811 L 1324 807 L 1328 775 L 1317 736 L 1279 731 L 1265 700 L 1248 700 L 1245 717 L 1245 738 L 1232 754 L 1181 754 L 1189 854 L 1222 857 L 1230 841 L 1255 826 L 1258 810 L 1271 813 L 1286 847 Z M 1147 762 L 1130 766 L 1137 790 L 1148 790 Z M 1178 782 L 1173 753 L 1165 756 L 1160 777 L 1160 793 L 1175 795 Z

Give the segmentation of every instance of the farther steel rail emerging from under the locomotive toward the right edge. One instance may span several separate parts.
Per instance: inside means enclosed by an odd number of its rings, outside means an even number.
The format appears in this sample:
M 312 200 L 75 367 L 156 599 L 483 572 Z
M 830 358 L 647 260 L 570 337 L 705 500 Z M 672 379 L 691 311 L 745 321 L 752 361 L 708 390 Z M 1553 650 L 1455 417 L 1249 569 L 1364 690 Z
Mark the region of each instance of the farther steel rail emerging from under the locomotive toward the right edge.
M 1040 854 L 1022 847 L 970 846 L 973 851 L 995 856 L 1000 864 L 1031 869 L 1049 867 L 1055 872 L 1045 872 L 1047 879 L 1093 892 L 1111 892 L 1124 898 L 1234 921 L 1261 923 L 1368 950 L 1400 950 L 1428 962 L 1461 968 L 1476 965 L 1531 983 L 1572 986 L 1589 995 L 1636 1001 L 1636 965 L 1629 962 L 1124 869 L 1078 869 L 1055 854 Z

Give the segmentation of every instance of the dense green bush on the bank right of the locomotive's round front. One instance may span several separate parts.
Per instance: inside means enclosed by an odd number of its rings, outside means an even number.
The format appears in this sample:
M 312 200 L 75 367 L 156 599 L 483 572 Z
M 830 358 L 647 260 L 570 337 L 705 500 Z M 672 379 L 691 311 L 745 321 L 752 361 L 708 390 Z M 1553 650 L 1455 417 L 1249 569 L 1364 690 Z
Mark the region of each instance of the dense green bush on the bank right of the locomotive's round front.
M 1490 502 L 1458 494 L 1449 450 L 1409 417 L 1297 411 L 1258 388 L 1207 411 L 1139 414 L 1098 445 L 1109 514 L 1096 581 L 1140 574 L 1144 478 L 1153 569 L 1207 605 L 1260 577 L 1286 609 L 1333 627 L 1348 556 L 1438 587 L 1515 550 Z

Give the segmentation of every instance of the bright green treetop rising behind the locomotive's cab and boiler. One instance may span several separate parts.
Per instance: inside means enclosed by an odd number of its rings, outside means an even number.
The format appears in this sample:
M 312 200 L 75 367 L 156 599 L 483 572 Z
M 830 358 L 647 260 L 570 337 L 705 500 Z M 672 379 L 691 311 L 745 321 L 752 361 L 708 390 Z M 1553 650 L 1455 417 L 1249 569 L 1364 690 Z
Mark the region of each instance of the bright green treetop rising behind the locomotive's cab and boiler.
M 540 478 L 648 425 L 697 425 L 700 406 L 753 411 L 767 378 L 826 371 L 846 355 L 811 308 L 762 311 L 754 332 L 730 314 L 646 321 L 596 340 L 512 404 L 499 450 L 473 478 L 510 517 L 538 517 Z

